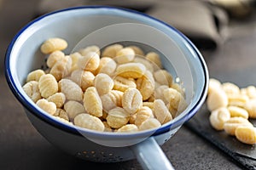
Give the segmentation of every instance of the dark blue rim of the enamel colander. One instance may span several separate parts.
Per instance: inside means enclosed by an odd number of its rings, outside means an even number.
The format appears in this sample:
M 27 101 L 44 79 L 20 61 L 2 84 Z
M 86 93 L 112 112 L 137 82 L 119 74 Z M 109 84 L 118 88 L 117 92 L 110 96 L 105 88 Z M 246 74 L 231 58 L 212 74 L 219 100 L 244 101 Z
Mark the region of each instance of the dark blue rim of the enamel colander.
M 166 133 L 168 131 L 170 131 L 170 128 L 175 128 L 175 127 L 179 127 L 181 125 L 183 125 L 184 122 L 189 121 L 189 119 L 195 115 L 195 113 L 201 108 L 201 105 L 203 105 L 206 97 L 207 97 L 207 88 L 208 88 L 208 71 L 207 71 L 207 65 L 203 59 L 203 57 L 201 56 L 201 53 L 199 52 L 199 50 L 195 47 L 195 45 L 193 44 L 193 42 L 191 42 L 189 40 L 188 37 L 184 36 L 182 32 L 178 31 L 176 28 L 166 24 L 166 22 L 162 21 L 162 20 L 158 20 L 152 16 L 149 16 L 148 14 L 144 14 L 142 12 L 139 12 L 137 10 L 133 10 L 133 9 L 129 9 L 129 8 L 120 8 L 120 7 L 112 7 L 112 6 L 107 6 L 107 5 L 92 5 L 92 6 L 79 6 L 79 7 L 73 7 L 73 8 L 63 8 L 60 10 L 55 10 L 53 12 L 50 12 L 48 14 L 44 14 L 42 16 L 39 16 L 38 18 L 32 20 L 31 22 L 29 22 L 26 26 L 24 26 L 23 28 L 20 29 L 20 31 L 18 31 L 18 33 L 15 35 L 15 37 L 12 39 L 12 41 L 9 43 L 9 47 L 7 48 L 6 54 L 5 54 L 5 59 L 4 59 L 4 66 L 5 66 L 5 77 L 6 80 L 9 84 L 9 88 L 11 89 L 12 93 L 15 95 L 16 99 L 18 99 L 20 101 L 20 103 L 26 108 L 27 111 L 30 111 L 34 116 L 37 116 L 39 119 L 43 120 L 44 122 L 49 123 L 50 125 L 57 127 L 65 132 L 68 133 L 73 133 L 73 134 L 77 134 L 79 136 L 81 136 L 82 134 L 79 133 L 79 130 L 76 127 L 70 127 L 65 125 L 64 123 L 61 122 L 56 122 L 53 119 L 51 119 L 49 116 L 45 116 L 44 114 L 41 114 L 40 111 L 38 111 L 37 108 L 34 107 L 34 105 L 31 105 L 30 103 L 28 103 L 26 101 L 26 99 L 24 98 L 24 96 L 22 96 L 22 94 L 20 94 L 19 89 L 16 87 L 15 85 L 15 81 L 11 75 L 11 71 L 9 68 L 9 57 L 10 57 L 10 53 L 12 51 L 12 48 L 15 44 L 15 41 L 17 40 L 18 37 L 20 37 L 20 34 L 22 34 L 23 31 L 26 31 L 26 28 L 28 28 L 29 26 L 32 26 L 32 24 L 38 22 L 39 20 L 44 19 L 44 17 L 47 17 L 49 15 L 52 14 L 56 14 L 56 13 L 61 13 L 63 11 L 68 11 L 68 10 L 74 10 L 74 9 L 84 9 L 84 8 L 106 8 L 106 9 L 115 9 L 115 10 L 122 10 L 122 11 L 126 11 L 129 13 L 133 13 L 133 14 L 139 14 L 139 15 L 143 15 L 144 17 L 147 17 L 151 20 L 155 20 L 157 22 L 159 22 L 162 25 L 165 25 L 167 27 L 169 27 L 170 29 L 172 29 L 173 31 L 176 31 L 177 34 L 181 37 L 183 37 L 183 40 L 185 40 L 186 42 L 188 42 L 188 44 L 190 45 L 190 47 L 194 50 L 195 54 L 198 56 L 198 59 L 201 62 L 201 67 L 203 69 L 203 74 L 204 74 L 204 86 L 202 89 L 202 93 L 200 98 L 198 99 L 198 101 L 195 103 L 195 105 L 191 108 L 191 110 L 188 112 L 188 114 L 184 115 L 183 117 L 181 117 L 180 119 L 178 119 L 177 121 L 174 121 L 168 125 L 163 125 L 161 126 L 159 129 L 157 129 L 152 135 L 158 135 L 160 133 Z M 97 133 L 97 132 L 92 132 L 92 133 Z M 125 133 L 125 135 L 136 135 L 137 133 Z M 101 135 L 104 135 L 104 133 L 101 133 Z M 107 135 L 111 135 L 111 133 L 107 133 Z M 116 135 L 113 133 L 113 135 Z

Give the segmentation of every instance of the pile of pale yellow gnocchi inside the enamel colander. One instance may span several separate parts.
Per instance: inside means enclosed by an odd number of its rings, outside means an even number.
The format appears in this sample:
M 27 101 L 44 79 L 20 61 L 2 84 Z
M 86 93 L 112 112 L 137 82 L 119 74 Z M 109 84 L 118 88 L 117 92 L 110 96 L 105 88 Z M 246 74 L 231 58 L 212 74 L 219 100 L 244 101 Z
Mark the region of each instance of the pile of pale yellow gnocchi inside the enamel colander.
M 47 69 L 31 71 L 23 89 L 62 122 L 101 132 L 132 133 L 160 127 L 187 107 L 182 86 L 160 55 L 119 43 L 64 54 L 60 37 L 42 42 Z

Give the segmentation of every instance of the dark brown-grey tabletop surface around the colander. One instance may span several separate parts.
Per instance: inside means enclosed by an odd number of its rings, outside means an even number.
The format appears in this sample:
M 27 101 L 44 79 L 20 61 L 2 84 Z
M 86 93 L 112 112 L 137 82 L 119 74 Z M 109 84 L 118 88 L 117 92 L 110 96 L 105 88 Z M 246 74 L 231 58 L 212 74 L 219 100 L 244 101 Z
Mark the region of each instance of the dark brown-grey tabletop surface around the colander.
M 6 0 L 0 10 L 0 169 L 142 169 L 137 160 L 108 164 L 81 161 L 49 144 L 29 122 L 5 81 L 3 58 L 16 31 L 36 14 L 36 5 L 37 1 L 32 0 Z M 255 17 L 230 23 L 229 32 L 221 47 L 214 51 L 201 51 L 210 77 L 222 82 L 235 82 L 240 87 L 256 85 Z M 186 126 L 161 148 L 177 170 L 243 168 Z

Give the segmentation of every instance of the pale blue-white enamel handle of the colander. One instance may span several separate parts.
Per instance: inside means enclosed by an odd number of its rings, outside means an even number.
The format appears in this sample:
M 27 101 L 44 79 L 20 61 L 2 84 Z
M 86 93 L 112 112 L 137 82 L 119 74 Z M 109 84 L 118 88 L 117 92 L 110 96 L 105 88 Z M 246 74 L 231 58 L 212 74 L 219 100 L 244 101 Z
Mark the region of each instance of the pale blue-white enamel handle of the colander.
M 137 161 L 140 162 L 143 169 L 147 170 L 174 170 L 171 162 L 166 157 L 160 145 L 157 144 L 154 137 L 150 137 L 139 144 L 131 146 Z

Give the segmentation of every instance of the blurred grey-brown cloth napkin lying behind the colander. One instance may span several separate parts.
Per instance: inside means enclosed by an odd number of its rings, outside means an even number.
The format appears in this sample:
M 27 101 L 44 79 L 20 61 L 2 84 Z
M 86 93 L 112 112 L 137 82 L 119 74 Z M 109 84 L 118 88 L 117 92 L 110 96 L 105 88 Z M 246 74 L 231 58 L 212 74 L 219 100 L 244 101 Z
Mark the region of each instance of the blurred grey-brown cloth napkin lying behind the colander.
M 224 9 L 203 1 L 174 0 L 42 0 L 38 15 L 50 11 L 80 5 L 110 5 L 132 8 L 165 21 L 194 42 L 199 49 L 213 50 L 224 42 L 224 28 L 228 24 L 228 15 Z

